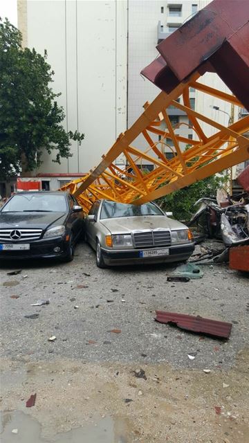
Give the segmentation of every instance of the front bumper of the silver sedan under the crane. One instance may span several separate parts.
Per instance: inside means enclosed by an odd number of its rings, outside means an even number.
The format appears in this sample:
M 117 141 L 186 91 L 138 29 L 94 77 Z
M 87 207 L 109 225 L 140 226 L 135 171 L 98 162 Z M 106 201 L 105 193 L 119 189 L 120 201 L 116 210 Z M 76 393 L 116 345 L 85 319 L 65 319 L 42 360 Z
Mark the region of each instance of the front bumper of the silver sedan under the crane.
M 144 264 L 144 263 L 171 263 L 187 260 L 194 252 L 194 243 L 178 244 L 168 246 L 169 255 L 158 255 L 154 257 L 140 257 L 142 251 L 146 249 L 126 249 L 124 251 L 110 251 L 101 248 L 104 263 L 109 266 L 118 266 L 120 264 Z M 152 248 L 164 249 L 164 248 Z

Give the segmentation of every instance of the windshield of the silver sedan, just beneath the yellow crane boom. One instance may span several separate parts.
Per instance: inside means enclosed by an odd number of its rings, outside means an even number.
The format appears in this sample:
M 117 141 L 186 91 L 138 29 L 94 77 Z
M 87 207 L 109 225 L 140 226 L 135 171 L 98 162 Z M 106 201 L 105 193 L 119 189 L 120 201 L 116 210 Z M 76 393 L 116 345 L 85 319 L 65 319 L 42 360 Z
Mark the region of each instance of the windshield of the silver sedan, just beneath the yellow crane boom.
M 163 215 L 162 211 L 152 203 L 131 205 L 104 201 L 100 219 L 114 219 L 118 217 L 139 217 L 141 215 Z

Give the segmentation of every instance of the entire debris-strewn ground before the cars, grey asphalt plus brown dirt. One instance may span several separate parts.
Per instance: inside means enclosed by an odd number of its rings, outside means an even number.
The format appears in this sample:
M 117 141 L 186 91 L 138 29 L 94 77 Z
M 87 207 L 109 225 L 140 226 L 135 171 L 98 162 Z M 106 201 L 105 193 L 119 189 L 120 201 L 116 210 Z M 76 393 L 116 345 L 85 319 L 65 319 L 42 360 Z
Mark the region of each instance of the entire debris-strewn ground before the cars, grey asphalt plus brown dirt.
M 1 409 L 28 412 L 46 438 L 107 416 L 129 423 L 113 443 L 247 443 L 248 275 L 205 265 L 167 282 L 175 267 L 98 269 L 84 243 L 69 264 L 2 263 Z M 156 323 L 156 309 L 232 322 L 230 339 Z

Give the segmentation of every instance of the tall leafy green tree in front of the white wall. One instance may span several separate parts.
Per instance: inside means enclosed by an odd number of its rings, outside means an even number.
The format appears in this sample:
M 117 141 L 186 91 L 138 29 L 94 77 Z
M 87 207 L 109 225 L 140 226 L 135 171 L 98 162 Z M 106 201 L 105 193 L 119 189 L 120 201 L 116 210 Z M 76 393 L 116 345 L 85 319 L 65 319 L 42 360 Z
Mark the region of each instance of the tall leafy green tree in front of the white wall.
M 21 33 L 0 18 L 0 179 L 41 165 L 43 150 L 55 150 L 53 161 L 71 156 L 71 140 L 81 141 L 84 134 L 66 132 L 65 114 L 55 100 L 51 86 L 54 72 L 40 55 L 21 47 Z

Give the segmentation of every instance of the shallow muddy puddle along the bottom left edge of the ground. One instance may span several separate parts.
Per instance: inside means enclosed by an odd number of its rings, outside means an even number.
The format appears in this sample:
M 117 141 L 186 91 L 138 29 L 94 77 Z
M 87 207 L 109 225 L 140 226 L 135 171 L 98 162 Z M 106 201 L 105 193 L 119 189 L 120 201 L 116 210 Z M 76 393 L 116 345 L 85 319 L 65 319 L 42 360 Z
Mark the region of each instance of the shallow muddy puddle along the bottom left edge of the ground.
M 125 419 L 105 417 L 55 435 L 52 440 L 41 437 L 42 427 L 37 420 L 19 410 L 1 413 L 1 443 L 129 443 L 131 434 Z

